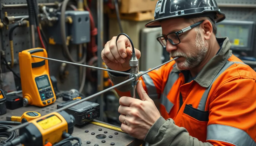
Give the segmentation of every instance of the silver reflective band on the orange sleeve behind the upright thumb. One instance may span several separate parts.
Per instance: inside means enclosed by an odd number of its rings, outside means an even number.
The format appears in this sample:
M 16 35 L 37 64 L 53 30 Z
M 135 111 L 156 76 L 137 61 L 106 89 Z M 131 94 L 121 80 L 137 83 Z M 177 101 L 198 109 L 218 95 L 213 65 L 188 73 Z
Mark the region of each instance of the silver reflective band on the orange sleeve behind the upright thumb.
M 156 92 L 156 86 L 152 80 L 152 78 L 148 74 L 144 74 L 142 76 L 144 83 L 146 84 L 147 87 L 147 95 L 152 99 L 157 99 L 158 94 Z

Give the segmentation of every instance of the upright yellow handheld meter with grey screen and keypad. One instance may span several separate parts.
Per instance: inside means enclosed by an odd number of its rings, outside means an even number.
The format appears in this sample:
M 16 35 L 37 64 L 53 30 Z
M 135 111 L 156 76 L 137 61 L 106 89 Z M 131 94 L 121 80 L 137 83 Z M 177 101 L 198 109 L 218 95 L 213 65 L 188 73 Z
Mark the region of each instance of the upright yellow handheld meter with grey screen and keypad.
M 31 55 L 46 57 L 43 48 L 19 52 L 19 69 L 23 104 L 44 107 L 55 102 L 56 96 L 49 75 L 48 60 Z

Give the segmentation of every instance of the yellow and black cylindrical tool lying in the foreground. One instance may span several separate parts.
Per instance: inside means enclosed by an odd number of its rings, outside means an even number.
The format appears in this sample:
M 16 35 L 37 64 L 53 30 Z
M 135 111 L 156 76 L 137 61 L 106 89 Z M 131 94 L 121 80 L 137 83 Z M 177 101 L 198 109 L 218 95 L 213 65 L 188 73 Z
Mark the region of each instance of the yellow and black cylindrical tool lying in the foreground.
M 27 126 L 19 129 L 19 137 L 6 143 L 6 146 L 14 146 L 19 143 L 24 146 L 54 145 L 63 139 L 71 140 L 75 118 L 66 111 L 59 111 L 28 122 Z M 65 142 L 67 141 L 65 140 Z M 79 143 L 81 145 L 81 140 Z

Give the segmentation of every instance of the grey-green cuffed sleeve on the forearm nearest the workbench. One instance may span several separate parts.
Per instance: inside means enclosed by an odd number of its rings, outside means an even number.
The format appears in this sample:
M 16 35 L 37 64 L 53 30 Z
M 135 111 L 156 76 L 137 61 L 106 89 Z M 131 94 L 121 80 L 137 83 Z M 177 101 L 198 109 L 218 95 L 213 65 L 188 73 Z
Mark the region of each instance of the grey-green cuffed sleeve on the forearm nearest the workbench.
M 162 116 L 149 129 L 144 141 L 151 146 L 213 146 L 189 136 L 188 131 L 176 126 L 173 119 L 165 120 Z

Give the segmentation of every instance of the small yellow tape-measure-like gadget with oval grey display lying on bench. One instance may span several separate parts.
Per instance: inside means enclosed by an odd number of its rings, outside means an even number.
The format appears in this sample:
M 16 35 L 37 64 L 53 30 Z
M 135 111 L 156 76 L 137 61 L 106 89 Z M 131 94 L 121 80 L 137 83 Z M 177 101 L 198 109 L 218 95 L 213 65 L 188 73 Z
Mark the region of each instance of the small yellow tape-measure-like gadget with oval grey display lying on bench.
M 36 111 L 27 111 L 24 114 L 22 114 L 21 117 L 19 116 L 7 116 L 7 121 L 17 121 L 21 123 L 25 123 L 27 121 L 31 121 L 35 118 L 41 117 L 41 114 Z

